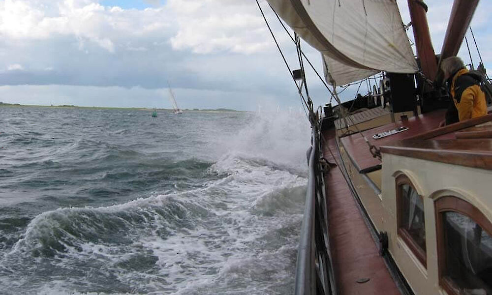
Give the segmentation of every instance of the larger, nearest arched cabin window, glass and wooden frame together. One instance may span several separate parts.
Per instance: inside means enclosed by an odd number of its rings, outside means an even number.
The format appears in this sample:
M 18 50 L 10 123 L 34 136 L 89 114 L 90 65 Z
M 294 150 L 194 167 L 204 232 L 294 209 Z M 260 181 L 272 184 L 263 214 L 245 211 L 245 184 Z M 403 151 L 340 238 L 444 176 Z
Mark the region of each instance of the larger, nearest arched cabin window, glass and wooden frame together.
M 492 294 L 492 224 L 471 204 L 436 202 L 439 283 L 450 295 Z

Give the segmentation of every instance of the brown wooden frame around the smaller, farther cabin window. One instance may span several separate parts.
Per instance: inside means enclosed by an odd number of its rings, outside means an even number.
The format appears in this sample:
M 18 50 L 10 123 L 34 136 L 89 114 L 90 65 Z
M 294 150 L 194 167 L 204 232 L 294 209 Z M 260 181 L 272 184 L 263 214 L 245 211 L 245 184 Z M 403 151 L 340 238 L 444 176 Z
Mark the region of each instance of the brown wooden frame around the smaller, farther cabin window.
M 401 204 L 401 199 L 403 198 L 401 196 L 401 189 L 400 186 L 403 184 L 409 185 L 413 190 L 417 192 L 419 197 L 422 199 L 422 204 L 424 203 L 424 198 L 422 197 L 421 194 L 415 189 L 415 186 L 413 185 L 412 181 L 410 178 L 408 178 L 406 175 L 402 174 L 398 177 L 396 177 L 395 180 L 396 183 L 396 203 L 397 203 L 397 233 L 398 236 L 401 237 L 401 239 L 405 242 L 405 244 L 408 246 L 408 248 L 412 251 L 412 253 L 417 257 L 417 259 L 424 265 L 424 267 L 427 268 L 427 251 L 423 249 L 414 239 L 413 237 L 408 233 L 406 229 L 402 227 L 402 219 L 401 216 L 403 216 L 403 205 Z M 425 223 L 425 211 L 424 211 L 424 223 Z M 427 243 L 427 231 L 426 231 L 426 243 Z M 427 245 L 426 245 L 427 248 Z

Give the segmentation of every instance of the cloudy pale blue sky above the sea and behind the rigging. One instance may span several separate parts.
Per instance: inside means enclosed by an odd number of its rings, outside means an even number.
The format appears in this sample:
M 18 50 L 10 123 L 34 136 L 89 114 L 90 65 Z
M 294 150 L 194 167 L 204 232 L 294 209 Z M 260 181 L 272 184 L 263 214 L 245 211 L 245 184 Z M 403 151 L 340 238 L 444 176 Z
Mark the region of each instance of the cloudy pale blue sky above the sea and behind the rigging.
M 295 46 L 260 3 L 289 64 L 299 67 Z M 406 0 L 398 4 L 409 23 Z M 438 53 L 452 0 L 428 4 Z M 492 1 L 480 1 L 471 27 L 492 71 L 489 11 Z M 322 73 L 320 54 L 303 50 Z M 469 63 L 464 42 L 459 56 Z M 314 105 L 326 103 L 329 93 L 310 70 L 307 81 Z M 0 0 L 0 101 L 171 108 L 169 86 L 184 109 L 301 108 L 255 0 Z

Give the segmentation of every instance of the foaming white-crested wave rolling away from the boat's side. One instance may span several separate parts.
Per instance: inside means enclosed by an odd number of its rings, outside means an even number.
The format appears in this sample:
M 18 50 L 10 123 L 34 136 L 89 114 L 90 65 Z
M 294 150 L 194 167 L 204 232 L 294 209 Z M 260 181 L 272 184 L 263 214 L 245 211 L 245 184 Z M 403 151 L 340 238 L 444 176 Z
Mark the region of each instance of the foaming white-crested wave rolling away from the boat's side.
M 241 163 L 239 158 L 232 161 Z M 282 246 L 279 241 L 294 249 L 306 179 L 268 166 L 249 166 L 248 171 L 247 166 L 179 194 L 44 212 L 5 255 L 1 265 L 8 267 L 1 272 L 18 274 L 30 266 L 29 281 L 69 273 L 73 285 L 65 282 L 71 287 L 64 290 L 70 292 L 152 293 L 172 286 L 173 293 L 187 288 L 189 278 L 207 280 L 232 271 L 227 270 L 231 259 L 275 252 Z M 271 218 L 284 222 L 272 225 Z M 108 286 L 115 273 L 118 278 Z M 25 290 L 28 282 L 16 280 Z

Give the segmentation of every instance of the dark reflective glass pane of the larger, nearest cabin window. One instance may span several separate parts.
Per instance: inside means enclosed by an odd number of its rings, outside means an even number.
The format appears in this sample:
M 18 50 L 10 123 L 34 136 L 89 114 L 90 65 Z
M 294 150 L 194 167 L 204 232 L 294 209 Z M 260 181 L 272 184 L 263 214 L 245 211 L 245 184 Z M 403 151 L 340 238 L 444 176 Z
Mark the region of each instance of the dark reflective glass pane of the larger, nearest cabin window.
M 456 294 L 492 295 L 492 238 L 471 218 L 443 214 L 445 269 Z M 458 290 L 456 290 L 458 289 Z

